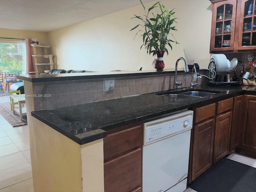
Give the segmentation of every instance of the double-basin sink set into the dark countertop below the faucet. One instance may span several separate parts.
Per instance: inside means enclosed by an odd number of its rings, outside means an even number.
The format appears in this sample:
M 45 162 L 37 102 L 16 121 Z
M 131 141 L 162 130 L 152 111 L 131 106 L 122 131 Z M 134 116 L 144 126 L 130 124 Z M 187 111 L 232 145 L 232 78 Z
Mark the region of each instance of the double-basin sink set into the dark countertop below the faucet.
M 168 96 L 172 98 L 192 99 L 192 98 L 206 98 L 206 97 L 212 98 L 217 93 L 220 93 L 220 91 L 188 89 L 188 90 L 182 90 L 182 91 L 161 92 L 161 93 L 157 93 L 157 95 Z

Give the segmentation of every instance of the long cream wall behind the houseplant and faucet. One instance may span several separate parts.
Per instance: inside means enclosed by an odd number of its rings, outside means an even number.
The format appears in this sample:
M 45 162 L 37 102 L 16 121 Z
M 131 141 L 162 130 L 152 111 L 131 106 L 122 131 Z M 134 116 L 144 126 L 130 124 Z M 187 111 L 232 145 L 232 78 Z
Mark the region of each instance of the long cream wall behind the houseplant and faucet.
M 155 2 L 146 4 L 146 8 Z M 166 8 L 175 8 L 180 43 L 164 56 L 165 68 L 174 68 L 178 57 L 186 56 L 207 67 L 210 54 L 212 5 L 207 0 L 163 0 Z M 65 70 L 152 70 L 154 58 L 140 46 L 142 38 L 130 29 L 138 24 L 131 18 L 142 15 L 142 6 L 96 18 L 48 33 L 52 54 L 56 55 L 58 68 Z M 179 66 L 182 67 L 183 64 Z

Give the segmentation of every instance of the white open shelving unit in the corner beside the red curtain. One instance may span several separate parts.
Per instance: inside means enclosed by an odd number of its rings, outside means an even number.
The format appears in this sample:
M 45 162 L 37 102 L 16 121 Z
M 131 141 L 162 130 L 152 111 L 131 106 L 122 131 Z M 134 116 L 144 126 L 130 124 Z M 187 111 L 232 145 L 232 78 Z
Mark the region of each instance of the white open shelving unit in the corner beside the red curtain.
M 42 74 L 42 73 L 49 73 L 50 70 L 53 69 L 53 56 L 49 54 L 48 45 L 38 45 L 38 44 L 30 44 L 31 46 L 31 56 L 35 68 L 34 74 Z M 44 66 L 44 67 L 43 67 Z M 50 66 L 50 70 L 49 67 Z

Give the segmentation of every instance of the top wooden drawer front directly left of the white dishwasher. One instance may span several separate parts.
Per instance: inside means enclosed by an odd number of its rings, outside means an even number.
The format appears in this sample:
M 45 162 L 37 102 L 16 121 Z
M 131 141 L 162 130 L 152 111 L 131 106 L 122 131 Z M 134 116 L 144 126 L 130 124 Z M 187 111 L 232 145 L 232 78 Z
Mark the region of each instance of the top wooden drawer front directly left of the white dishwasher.
M 104 139 L 104 160 L 132 148 L 142 146 L 142 127 L 140 125 L 107 135 Z

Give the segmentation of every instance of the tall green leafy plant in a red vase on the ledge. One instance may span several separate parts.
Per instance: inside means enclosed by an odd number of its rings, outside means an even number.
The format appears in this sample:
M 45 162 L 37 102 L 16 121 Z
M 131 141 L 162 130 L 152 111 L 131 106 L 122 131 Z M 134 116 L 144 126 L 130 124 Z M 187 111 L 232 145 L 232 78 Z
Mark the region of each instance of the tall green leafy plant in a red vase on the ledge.
M 171 33 L 177 31 L 176 26 L 174 26 L 174 24 L 177 23 L 177 18 L 174 16 L 175 12 L 173 9 L 166 9 L 166 7 L 164 5 L 161 5 L 160 2 L 156 2 L 152 7 L 148 8 L 147 12 L 141 0 L 140 3 L 144 8 L 145 15 L 134 15 L 134 17 L 132 18 L 139 19 L 142 24 L 136 25 L 130 31 L 138 27 L 141 28 L 140 30 L 138 30 L 136 35 L 138 33 L 142 33 L 142 46 L 146 48 L 148 54 L 153 54 L 153 56 L 157 55 L 158 58 L 156 59 L 155 68 L 157 69 L 157 71 L 162 71 L 164 68 L 164 53 L 166 52 L 168 54 L 168 49 L 166 45 L 168 45 L 172 50 L 171 43 L 178 44 L 173 34 Z M 159 8 L 160 12 L 154 14 L 153 10 L 155 8 Z M 150 13 L 152 14 L 152 17 L 149 16 L 151 15 Z M 136 37 L 136 35 L 134 36 L 134 38 Z M 169 35 L 173 37 L 173 40 L 169 38 Z M 142 46 L 140 47 L 140 49 L 142 48 Z

